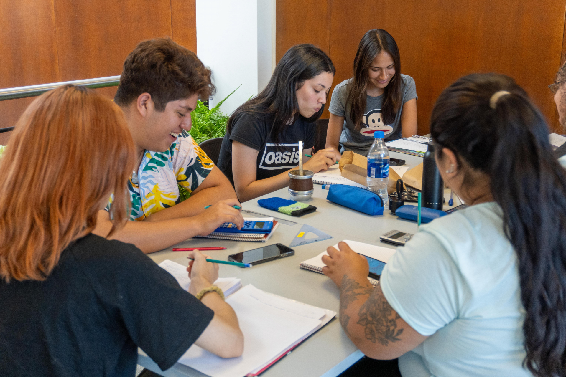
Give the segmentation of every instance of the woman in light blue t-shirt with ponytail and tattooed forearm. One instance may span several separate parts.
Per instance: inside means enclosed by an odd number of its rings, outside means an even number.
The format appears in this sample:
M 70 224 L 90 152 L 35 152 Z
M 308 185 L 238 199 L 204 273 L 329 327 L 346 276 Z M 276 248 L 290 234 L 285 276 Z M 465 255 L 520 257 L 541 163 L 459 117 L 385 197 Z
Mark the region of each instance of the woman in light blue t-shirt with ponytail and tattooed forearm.
M 566 375 L 566 173 L 543 116 L 504 75 L 469 75 L 438 98 L 444 182 L 469 208 L 421 226 L 375 289 L 348 245 L 323 272 L 340 322 L 403 376 Z

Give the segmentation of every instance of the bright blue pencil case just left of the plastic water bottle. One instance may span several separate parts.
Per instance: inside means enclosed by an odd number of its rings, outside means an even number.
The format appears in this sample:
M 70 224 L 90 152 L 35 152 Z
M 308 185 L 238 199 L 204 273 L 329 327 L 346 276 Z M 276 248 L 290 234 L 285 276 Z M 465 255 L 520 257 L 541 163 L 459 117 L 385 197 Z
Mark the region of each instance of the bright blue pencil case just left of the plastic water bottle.
M 327 200 L 368 215 L 383 215 L 383 200 L 378 194 L 361 187 L 331 185 Z

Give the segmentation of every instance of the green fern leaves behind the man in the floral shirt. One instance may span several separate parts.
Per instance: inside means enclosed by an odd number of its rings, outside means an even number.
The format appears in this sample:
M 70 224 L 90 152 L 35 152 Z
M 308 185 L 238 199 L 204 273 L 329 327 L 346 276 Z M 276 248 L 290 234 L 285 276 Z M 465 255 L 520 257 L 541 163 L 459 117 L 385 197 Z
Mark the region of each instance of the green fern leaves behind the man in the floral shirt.
M 234 89 L 234 92 L 238 88 Z M 192 127 L 191 131 L 188 132 L 196 144 L 200 144 L 209 138 L 224 137 L 226 134 L 226 123 L 228 123 L 230 117 L 220 111 L 220 105 L 234 92 L 228 94 L 226 98 L 218 102 L 212 109 L 208 109 L 201 101 L 197 102 L 195 111 L 191 112 Z

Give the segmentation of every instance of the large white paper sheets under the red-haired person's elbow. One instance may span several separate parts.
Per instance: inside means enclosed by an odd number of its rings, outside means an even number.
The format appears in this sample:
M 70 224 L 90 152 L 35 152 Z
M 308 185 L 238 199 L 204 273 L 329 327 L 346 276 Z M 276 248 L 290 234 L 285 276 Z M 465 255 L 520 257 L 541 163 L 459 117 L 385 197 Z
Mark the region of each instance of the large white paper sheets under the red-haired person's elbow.
M 212 377 L 255 376 L 335 315 L 335 311 L 302 304 L 246 285 L 226 302 L 238 315 L 244 335 L 241 357 L 223 359 L 196 345 L 179 359 Z

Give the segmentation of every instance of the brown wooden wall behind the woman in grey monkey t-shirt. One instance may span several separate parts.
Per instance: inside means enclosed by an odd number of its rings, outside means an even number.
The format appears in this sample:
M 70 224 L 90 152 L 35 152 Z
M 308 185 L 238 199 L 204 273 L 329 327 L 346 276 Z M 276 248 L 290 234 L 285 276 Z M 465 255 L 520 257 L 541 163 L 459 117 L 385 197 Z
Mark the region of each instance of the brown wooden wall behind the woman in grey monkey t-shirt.
M 278 0 L 279 3 L 293 3 Z M 554 122 L 555 105 L 547 85 L 560 64 L 565 0 L 375 0 L 331 1 L 329 54 L 337 73 L 333 85 L 351 77 L 355 50 L 368 29 L 382 28 L 395 37 L 401 72 L 417 84 L 418 132 L 428 133 L 434 101 L 458 77 L 472 72 L 499 72 L 514 77 Z M 299 12 L 294 34 L 308 36 Z M 306 24 L 306 23 L 305 23 Z M 279 29 L 277 29 L 279 32 Z M 293 45 L 293 35 L 277 33 L 277 47 Z M 301 40 L 301 42 L 304 41 Z M 277 53 L 280 57 L 280 54 Z

